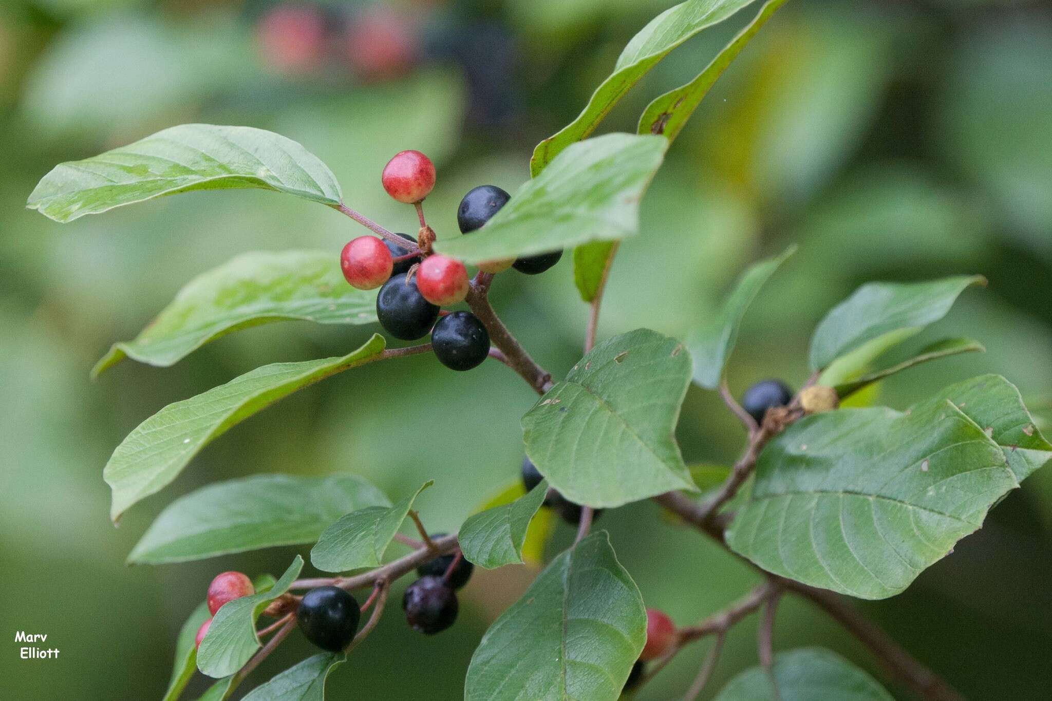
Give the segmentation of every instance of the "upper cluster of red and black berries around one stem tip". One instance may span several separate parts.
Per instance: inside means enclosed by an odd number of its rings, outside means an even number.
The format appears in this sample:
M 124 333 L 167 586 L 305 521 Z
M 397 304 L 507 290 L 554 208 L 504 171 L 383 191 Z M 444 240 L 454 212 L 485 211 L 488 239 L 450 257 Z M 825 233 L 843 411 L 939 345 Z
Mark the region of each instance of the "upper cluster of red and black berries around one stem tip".
M 394 200 L 418 205 L 434 187 L 434 164 L 420 151 L 402 151 L 384 167 L 384 189 Z M 482 226 L 510 195 L 493 185 L 476 187 L 461 201 L 457 222 L 462 233 Z M 421 229 L 419 241 L 399 233 L 411 245 L 386 239 L 359 236 L 343 247 L 340 267 L 347 282 L 360 290 L 380 288 L 377 317 L 390 335 L 416 341 L 431 332 L 436 356 L 453 370 L 470 370 L 489 355 L 489 332 L 466 311 L 442 314 L 440 307 L 463 302 L 470 289 L 467 268 L 454 259 L 432 253 L 433 232 Z M 479 269 L 497 273 L 514 267 L 527 274 L 544 272 L 559 262 L 562 251 L 518 260 L 483 263 Z M 440 318 L 441 316 L 441 318 Z

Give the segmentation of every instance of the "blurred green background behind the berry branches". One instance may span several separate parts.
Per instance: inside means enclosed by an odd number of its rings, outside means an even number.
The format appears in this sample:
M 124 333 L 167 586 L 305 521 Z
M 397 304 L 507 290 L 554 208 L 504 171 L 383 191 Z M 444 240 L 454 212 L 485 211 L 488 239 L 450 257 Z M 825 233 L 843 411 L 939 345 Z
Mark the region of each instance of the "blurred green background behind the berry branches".
M 671 0 L 6 0 L 0 6 L 0 698 L 145 700 L 167 683 L 176 633 L 211 576 L 280 573 L 289 552 L 126 568 L 157 513 L 202 484 L 258 472 L 367 476 L 393 498 L 427 478 L 426 523 L 456 530 L 515 478 L 530 390 L 498 364 L 445 371 L 430 356 L 368 366 L 237 427 L 114 530 L 102 466 L 164 405 L 257 366 L 357 347 L 371 328 L 278 324 L 228 336 L 174 368 L 88 370 L 133 337 L 191 276 L 250 249 L 339 254 L 363 231 L 325 207 L 262 191 L 165 199 L 60 226 L 23 209 L 59 161 L 165 126 L 247 124 L 302 142 L 351 206 L 412 230 L 380 187 L 403 148 L 438 165 L 427 200 L 439 235 L 482 183 L 513 190 L 533 144 L 572 119 L 625 42 Z M 754 9 L 661 63 L 604 129 L 632 130 L 649 99 L 688 81 Z M 1052 397 L 1052 12 L 984 0 L 792 0 L 728 70 L 643 204 L 642 234 L 614 265 L 601 336 L 647 326 L 682 336 L 757 256 L 797 255 L 750 313 L 732 389 L 806 377 L 811 329 L 862 282 L 982 272 L 915 347 L 969 335 L 985 355 L 893 378 L 904 407 L 998 372 Z M 569 257 L 514 272 L 495 306 L 557 375 L 580 354 L 586 307 Z M 1045 401 L 1041 405 L 1041 401 Z M 392 420 L 398 419 L 398 420 Z M 692 389 L 688 460 L 729 461 L 743 434 Z M 749 570 L 650 504 L 608 514 L 649 605 L 692 622 L 744 593 Z M 655 525 L 656 523 L 656 525 Z M 973 700 L 1045 700 L 1052 687 L 1052 471 L 1009 496 L 986 528 L 907 593 L 859 607 Z M 570 538 L 561 527 L 552 552 Z M 392 552 L 401 549 L 394 545 Z M 300 549 L 305 552 L 306 549 Z M 401 552 L 401 550 L 399 550 Z M 460 699 L 471 651 L 532 572 L 479 572 L 451 631 L 425 638 L 393 606 L 329 682 L 332 699 Z M 404 584 L 404 582 L 403 582 Z M 397 599 L 396 599 L 397 600 Z M 736 628 L 710 689 L 755 661 Z M 57 661 L 22 661 L 14 631 L 48 634 Z M 705 645 L 641 699 L 674 697 Z M 873 668 L 822 614 L 787 601 L 775 644 L 823 644 Z M 309 654 L 300 636 L 254 675 Z M 885 679 L 879 671 L 874 671 Z M 886 680 L 887 681 L 887 680 Z M 898 698 L 907 696 L 889 682 Z M 197 679 L 193 692 L 204 687 Z M 708 697 L 706 697 L 708 698 Z

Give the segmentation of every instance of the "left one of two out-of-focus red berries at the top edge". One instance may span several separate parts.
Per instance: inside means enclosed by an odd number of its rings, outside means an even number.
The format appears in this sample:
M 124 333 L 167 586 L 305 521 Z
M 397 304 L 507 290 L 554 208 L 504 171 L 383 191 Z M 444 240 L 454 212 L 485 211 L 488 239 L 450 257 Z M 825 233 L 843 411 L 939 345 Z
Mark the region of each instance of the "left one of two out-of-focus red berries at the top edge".
M 325 22 L 313 8 L 281 5 L 260 20 L 257 40 L 267 65 L 286 74 L 306 73 L 321 64 Z

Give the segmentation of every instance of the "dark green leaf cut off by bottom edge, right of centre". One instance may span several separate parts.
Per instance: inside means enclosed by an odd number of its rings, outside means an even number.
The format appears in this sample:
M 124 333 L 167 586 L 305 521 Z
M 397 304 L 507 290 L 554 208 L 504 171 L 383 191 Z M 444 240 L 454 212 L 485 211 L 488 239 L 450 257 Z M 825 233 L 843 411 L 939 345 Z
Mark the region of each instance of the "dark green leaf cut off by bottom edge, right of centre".
M 714 701 L 895 701 L 876 680 L 839 655 L 802 647 L 774 656 L 771 677 L 763 667 L 727 682 Z

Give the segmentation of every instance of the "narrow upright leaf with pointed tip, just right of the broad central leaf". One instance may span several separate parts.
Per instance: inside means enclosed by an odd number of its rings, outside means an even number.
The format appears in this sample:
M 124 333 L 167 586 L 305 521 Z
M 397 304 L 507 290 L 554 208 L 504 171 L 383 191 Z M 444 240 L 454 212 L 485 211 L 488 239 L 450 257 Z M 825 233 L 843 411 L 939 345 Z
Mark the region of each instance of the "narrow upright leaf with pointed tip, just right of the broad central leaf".
M 696 384 L 710 390 L 720 387 L 727 358 L 737 342 L 737 330 L 745 312 L 760 293 L 760 288 L 795 252 L 796 247 L 790 246 L 781 255 L 762 261 L 746 270 L 715 318 L 687 337 L 687 348 L 694 362 Z

